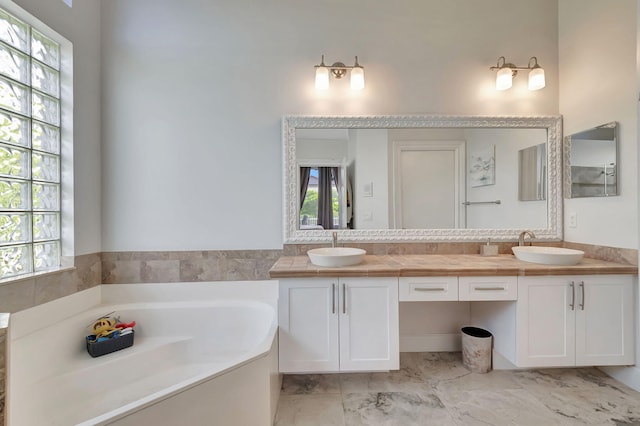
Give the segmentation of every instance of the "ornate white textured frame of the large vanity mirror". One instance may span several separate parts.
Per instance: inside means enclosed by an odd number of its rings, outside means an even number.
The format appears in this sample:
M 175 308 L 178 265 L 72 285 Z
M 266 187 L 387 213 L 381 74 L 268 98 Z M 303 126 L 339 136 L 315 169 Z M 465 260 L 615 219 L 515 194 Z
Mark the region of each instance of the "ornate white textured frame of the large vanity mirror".
M 338 229 L 304 230 L 298 224 L 296 129 L 378 128 L 544 128 L 547 130 L 547 228 L 531 229 L 538 240 L 562 240 L 562 117 L 561 116 L 450 116 L 359 115 L 282 118 L 283 228 L 285 244 L 327 243 L 337 231 L 341 242 L 473 242 L 514 241 L 522 229 Z M 514 160 L 516 161 L 516 160 Z

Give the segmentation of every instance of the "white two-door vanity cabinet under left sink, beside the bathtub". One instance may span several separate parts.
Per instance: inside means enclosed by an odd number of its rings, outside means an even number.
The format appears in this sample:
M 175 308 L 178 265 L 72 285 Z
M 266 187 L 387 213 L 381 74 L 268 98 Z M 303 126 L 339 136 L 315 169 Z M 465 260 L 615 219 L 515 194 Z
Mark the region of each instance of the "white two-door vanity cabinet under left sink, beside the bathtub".
M 398 279 L 284 278 L 280 372 L 399 368 Z

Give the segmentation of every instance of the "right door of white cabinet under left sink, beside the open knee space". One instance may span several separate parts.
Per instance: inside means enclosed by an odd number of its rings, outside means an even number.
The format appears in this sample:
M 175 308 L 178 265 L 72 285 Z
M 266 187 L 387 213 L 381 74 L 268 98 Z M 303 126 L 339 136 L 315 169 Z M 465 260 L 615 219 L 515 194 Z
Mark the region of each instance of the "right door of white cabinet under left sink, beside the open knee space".
M 398 279 L 340 279 L 340 370 L 399 368 Z

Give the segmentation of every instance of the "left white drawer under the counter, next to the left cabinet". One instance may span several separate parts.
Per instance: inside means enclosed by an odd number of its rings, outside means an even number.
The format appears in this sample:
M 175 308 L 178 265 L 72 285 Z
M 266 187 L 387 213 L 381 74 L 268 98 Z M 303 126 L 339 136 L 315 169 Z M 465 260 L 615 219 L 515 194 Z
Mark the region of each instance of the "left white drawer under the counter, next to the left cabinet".
M 399 285 L 401 302 L 458 300 L 458 277 L 400 277 Z

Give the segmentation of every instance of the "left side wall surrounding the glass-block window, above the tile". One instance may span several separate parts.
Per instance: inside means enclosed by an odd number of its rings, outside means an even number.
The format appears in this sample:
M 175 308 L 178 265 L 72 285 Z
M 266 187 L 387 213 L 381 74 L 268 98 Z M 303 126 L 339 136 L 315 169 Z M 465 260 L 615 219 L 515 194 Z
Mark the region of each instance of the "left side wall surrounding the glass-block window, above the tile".
M 75 254 L 101 247 L 100 4 L 82 0 L 14 3 L 73 43 Z

